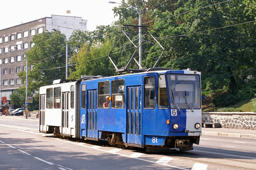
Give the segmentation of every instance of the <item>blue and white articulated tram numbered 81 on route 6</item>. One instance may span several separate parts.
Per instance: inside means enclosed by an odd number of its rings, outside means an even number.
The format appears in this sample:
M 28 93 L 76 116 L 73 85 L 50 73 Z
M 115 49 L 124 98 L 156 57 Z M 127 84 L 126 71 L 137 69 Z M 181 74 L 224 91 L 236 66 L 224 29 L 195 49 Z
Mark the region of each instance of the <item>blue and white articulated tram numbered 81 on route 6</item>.
M 192 150 L 201 134 L 200 72 L 148 70 L 40 88 L 40 131 L 148 150 Z

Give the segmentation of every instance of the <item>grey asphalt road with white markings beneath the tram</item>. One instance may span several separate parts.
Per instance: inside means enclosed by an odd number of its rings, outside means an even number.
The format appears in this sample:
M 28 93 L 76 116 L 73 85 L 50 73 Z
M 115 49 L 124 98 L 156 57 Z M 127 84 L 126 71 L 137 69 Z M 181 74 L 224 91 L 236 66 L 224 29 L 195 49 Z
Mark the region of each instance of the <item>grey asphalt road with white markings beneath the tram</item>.
M 38 129 L 38 120 L 0 117 L 0 169 L 256 169 L 256 139 L 203 135 L 193 151 L 148 154 Z

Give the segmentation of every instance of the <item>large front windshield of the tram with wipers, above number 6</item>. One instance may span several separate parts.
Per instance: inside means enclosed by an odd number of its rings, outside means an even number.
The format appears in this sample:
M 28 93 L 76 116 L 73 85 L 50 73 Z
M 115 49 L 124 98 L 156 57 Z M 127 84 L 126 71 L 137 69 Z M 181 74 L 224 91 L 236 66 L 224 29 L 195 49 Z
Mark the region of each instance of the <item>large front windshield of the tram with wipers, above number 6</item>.
M 200 109 L 200 76 L 167 74 L 172 109 Z

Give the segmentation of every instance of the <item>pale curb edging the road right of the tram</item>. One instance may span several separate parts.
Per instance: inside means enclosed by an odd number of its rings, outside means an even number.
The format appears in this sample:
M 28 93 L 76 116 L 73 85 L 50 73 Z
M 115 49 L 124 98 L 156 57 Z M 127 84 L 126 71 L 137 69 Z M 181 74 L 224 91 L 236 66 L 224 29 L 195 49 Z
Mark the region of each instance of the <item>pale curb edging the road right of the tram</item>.
M 238 138 L 256 139 L 256 134 L 224 133 L 224 132 L 216 132 L 216 131 L 202 131 L 202 135 L 215 135 L 215 136 L 222 136 L 222 137 L 238 137 Z

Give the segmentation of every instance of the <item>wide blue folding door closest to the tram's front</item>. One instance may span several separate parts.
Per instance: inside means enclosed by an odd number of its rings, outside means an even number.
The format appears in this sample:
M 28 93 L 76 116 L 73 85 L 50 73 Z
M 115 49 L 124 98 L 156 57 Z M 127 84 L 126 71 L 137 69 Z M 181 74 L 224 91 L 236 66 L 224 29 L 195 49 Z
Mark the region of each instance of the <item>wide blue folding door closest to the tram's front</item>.
M 141 145 L 141 86 L 127 87 L 127 143 Z

